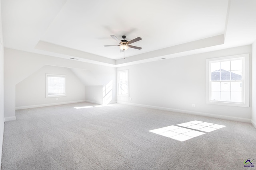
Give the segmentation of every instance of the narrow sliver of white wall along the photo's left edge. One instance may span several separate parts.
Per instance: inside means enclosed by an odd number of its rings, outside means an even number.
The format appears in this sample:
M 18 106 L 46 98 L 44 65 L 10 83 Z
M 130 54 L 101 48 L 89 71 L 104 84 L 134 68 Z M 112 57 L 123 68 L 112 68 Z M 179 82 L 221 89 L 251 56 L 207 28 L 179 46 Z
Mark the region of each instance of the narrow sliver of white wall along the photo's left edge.
M 2 33 L 2 13 L 0 2 L 0 162 L 4 137 L 4 43 Z M 1 168 L 0 168 L 1 169 Z

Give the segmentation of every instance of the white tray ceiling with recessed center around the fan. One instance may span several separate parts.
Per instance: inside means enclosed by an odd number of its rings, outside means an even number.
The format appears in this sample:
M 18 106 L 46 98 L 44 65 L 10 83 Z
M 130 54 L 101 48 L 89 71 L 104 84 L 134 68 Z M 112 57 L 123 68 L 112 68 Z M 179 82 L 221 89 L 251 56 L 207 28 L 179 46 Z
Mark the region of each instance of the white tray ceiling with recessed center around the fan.
M 4 46 L 109 66 L 252 44 L 255 0 L 1 0 Z M 110 35 L 142 40 L 126 59 Z

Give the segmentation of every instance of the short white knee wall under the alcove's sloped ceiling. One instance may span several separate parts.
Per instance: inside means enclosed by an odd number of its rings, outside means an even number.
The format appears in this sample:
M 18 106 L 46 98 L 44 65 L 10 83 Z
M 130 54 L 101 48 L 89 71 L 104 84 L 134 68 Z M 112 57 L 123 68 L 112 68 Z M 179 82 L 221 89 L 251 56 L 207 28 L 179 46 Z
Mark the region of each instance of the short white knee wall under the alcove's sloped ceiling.
M 86 102 L 103 104 L 103 86 L 85 86 Z

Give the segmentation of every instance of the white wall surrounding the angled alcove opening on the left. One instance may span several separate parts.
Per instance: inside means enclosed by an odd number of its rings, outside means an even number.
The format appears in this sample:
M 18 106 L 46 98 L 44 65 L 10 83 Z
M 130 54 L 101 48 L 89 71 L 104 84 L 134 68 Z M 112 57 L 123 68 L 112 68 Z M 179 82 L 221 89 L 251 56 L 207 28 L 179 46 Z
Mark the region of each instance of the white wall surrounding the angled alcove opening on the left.
M 98 83 L 102 86 L 104 86 L 104 84 L 108 84 L 110 81 L 115 82 L 116 80 L 116 68 L 5 48 L 4 117 L 6 121 L 16 119 L 16 84 L 45 65 L 90 70 L 92 75 L 97 75 Z M 90 78 L 88 79 L 88 81 L 90 81 Z M 112 102 L 115 102 L 115 84 L 113 86 L 112 96 Z

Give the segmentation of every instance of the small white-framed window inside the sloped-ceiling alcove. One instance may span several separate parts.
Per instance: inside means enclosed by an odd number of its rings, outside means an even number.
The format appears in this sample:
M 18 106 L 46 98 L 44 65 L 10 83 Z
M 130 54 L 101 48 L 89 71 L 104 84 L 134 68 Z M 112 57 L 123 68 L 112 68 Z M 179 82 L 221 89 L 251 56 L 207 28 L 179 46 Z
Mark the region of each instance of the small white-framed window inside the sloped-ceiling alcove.
M 46 74 L 46 98 L 66 96 L 66 76 Z

